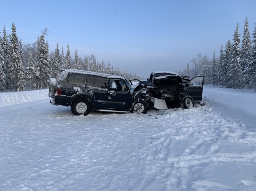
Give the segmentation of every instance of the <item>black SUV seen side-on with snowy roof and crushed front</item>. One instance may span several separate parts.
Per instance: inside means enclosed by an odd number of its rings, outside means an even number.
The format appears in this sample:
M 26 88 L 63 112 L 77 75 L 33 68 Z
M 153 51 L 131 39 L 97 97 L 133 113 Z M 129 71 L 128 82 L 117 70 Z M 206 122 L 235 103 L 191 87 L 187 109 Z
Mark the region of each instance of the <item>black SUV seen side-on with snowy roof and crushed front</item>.
M 50 103 L 71 107 L 74 115 L 88 115 L 91 109 L 146 113 L 148 105 L 140 99 L 145 94 L 141 84 L 132 86 L 121 76 L 76 69 L 63 70 L 49 86 Z

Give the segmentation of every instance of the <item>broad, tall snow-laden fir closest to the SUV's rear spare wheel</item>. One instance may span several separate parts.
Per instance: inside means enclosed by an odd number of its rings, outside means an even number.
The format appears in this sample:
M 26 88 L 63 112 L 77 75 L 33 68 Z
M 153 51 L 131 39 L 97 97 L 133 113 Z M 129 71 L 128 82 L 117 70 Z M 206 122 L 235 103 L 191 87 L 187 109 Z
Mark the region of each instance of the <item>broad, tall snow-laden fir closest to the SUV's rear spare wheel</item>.
M 37 61 L 36 61 L 36 77 L 38 80 L 38 89 L 47 87 L 51 75 L 50 58 L 49 58 L 49 46 L 44 40 L 45 34 L 42 33 L 38 40 Z

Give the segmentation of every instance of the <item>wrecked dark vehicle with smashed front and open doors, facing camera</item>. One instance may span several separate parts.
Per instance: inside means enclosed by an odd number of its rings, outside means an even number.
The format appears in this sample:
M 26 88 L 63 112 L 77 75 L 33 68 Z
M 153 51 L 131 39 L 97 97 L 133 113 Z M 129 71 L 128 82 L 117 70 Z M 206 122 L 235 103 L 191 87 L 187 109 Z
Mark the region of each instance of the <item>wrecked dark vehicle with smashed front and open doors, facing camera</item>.
M 188 78 L 170 71 L 152 72 L 147 79 L 148 83 L 144 83 L 148 94 L 144 100 L 149 107 L 160 110 L 173 107 L 191 108 L 195 102 L 201 104 L 204 76 Z

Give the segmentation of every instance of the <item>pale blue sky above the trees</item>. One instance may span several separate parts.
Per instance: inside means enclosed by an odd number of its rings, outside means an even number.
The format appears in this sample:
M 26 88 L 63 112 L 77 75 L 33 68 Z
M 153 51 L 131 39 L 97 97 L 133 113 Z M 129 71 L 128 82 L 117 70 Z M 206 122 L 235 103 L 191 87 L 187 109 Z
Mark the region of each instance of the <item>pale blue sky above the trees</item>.
M 256 0 L 6 0 L 1 2 L 0 31 L 5 25 L 24 44 L 44 28 L 50 51 L 69 43 L 71 56 L 92 53 L 114 69 L 145 78 L 152 71 L 183 70 L 198 53 L 219 56 L 236 24 L 243 38 L 256 23 Z

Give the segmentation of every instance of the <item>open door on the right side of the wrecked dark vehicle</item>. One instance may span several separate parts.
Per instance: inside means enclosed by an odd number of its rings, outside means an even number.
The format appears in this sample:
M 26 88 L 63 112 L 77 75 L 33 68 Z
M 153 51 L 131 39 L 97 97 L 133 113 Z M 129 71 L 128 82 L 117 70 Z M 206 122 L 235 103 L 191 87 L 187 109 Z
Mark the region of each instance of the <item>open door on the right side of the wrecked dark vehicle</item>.
M 204 76 L 196 76 L 192 78 L 187 87 L 188 94 L 194 99 L 194 101 L 202 101 Z

